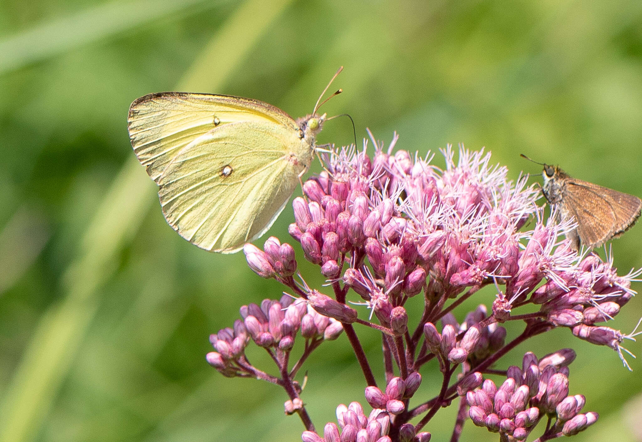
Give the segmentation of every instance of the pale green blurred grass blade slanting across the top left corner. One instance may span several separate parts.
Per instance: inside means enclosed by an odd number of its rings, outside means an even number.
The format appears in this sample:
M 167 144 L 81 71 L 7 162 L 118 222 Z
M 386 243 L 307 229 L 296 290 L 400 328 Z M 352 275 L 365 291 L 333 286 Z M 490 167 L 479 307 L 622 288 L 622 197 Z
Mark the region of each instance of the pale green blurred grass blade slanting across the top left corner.
M 211 0 L 137 0 L 100 4 L 74 15 L 43 22 L 0 40 L 0 74 L 65 53 L 99 38 L 114 35 L 196 4 L 218 6 Z M 227 3 L 227 2 L 226 2 Z

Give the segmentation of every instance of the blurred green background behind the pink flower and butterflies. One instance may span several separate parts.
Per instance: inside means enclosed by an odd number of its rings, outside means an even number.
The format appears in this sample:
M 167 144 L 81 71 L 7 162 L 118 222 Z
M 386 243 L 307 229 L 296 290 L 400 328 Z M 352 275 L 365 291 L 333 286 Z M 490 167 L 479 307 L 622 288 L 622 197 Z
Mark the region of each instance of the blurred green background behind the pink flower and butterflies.
M 344 93 L 324 110 L 351 114 L 358 139 L 369 127 L 386 142 L 397 130 L 399 148 L 422 153 L 448 142 L 486 146 L 512 178 L 539 173 L 525 153 L 642 196 L 637 0 L 3 1 L 2 440 L 300 440 L 281 389 L 223 378 L 204 359 L 208 335 L 232 325 L 240 305 L 279 298 L 282 287 L 254 275 L 242 253 L 207 253 L 166 225 L 126 117 L 131 101 L 162 90 L 248 96 L 297 117 L 340 65 L 333 89 Z M 320 135 L 351 141 L 347 119 Z M 288 207 L 270 234 L 288 241 L 291 219 Z M 642 266 L 641 246 L 641 227 L 614 241 L 616 266 Z M 317 269 L 302 261 L 319 286 Z M 492 302 L 492 291 L 458 316 L 479 302 Z M 641 305 L 632 300 L 613 327 L 629 332 Z M 379 336 L 358 331 L 380 365 Z M 509 327 L 509 336 L 518 332 Z M 639 440 L 630 430 L 642 417 L 639 361 L 629 358 L 629 373 L 614 352 L 564 329 L 503 364 L 563 346 L 578 352 L 571 393 L 600 413 L 575 440 Z M 249 353 L 273 371 L 263 353 Z M 305 369 L 302 397 L 317 429 L 337 404 L 365 404 L 344 336 Z M 437 391 L 434 370 L 423 370 L 420 399 Z M 449 439 L 455 408 L 426 427 L 433 440 Z M 496 438 L 469 422 L 462 441 Z

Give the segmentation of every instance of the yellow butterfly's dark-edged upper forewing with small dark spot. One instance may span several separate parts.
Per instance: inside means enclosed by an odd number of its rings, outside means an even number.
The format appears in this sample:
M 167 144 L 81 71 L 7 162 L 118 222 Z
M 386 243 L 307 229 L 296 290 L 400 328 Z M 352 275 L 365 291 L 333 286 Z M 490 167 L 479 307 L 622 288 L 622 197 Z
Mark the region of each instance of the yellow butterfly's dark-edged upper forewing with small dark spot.
M 182 92 L 150 94 L 134 101 L 128 130 L 136 157 L 158 182 L 180 149 L 214 128 L 241 121 L 269 121 L 298 130 L 289 115 L 263 101 Z

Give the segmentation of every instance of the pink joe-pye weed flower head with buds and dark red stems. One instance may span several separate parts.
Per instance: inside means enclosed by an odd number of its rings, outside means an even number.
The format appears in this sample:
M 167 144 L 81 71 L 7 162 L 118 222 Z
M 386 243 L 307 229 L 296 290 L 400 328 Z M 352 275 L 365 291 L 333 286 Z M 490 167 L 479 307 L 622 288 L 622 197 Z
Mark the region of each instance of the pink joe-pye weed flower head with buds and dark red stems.
M 299 414 L 306 442 L 428 441 L 431 418 L 458 397 L 451 440 L 459 439 L 467 418 L 502 441 L 525 440 L 542 419 L 548 425 L 538 441 L 586 429 L 598 416 L 581 412 L 584 396 L 569 395 L 573 350 L 551 348 L 542 359 L 528 352 L 521 368 L 503 368 L 499 359 L 530 337 L 566 327 L 616 350 L 628 368 L 621 343 L 633 336 L 602 324 L 634 295 L 630 285 L 639 271 L 618 276 L 610 253 L 602 260 L 573 250 L 564 238 L 572 221 L 545 217 L 539 187 L 526 176 L 508 180 L 507 168 L 492 164 L 483 149 L 462 146 L 455 160 L 447 146 L 440 169 L 434 155 L 394 151 L 396 142 L 395 135 L 387 149 L 375 143 L 372 156 L 367 141 L 363 149 L 325 155 L 325 171 L 293 200 L 290 235 L 320 268 L 324 287 L 309 287 L 287 242 L 270 237 L 263 250 L 246 244 L 250 268 L 297 299 L 241 307 L 233 328 L 211 336 L 216 351 L 207 361 L 225 376 L 282 386 L 286 414 Z M 496 290 L 492 305 L 478 305 L 459 323 L 453 310 L 486 285 Z M 422 305 L 419 316 L 409 317 L 408 302 Z M 523 323 L 521 334 L 508 337 L 506 321 Z M 372 411 L 358 401 L 340 404 L 337 423 L 317 432 L 295 377 L 311 352 L 342 332 Z M 381 334 L 383 377 L 373 373 L 359 339 L 372 332 Z M 304 348 L 295 361 L 297 338 Z M 277 374 L 248 361 L 245 347 L 252 342 L 270 353 Z M 439 393 L 414 404 L 428 370 L 442 375 Z

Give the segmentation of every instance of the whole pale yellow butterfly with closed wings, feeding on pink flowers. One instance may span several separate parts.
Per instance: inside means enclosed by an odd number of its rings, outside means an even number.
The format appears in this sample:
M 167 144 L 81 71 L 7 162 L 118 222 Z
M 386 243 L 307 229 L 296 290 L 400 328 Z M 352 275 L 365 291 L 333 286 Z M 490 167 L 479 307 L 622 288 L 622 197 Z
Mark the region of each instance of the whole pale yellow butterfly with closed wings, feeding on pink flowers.
M 220 253 L 265 234 L 312 162 L 326 119 L 317 115 L 320 99 L 297 121 L 268 103 L 235 96 L 161 92 L 134 101 L 129 136 L 159 186 L 168 224 Z

